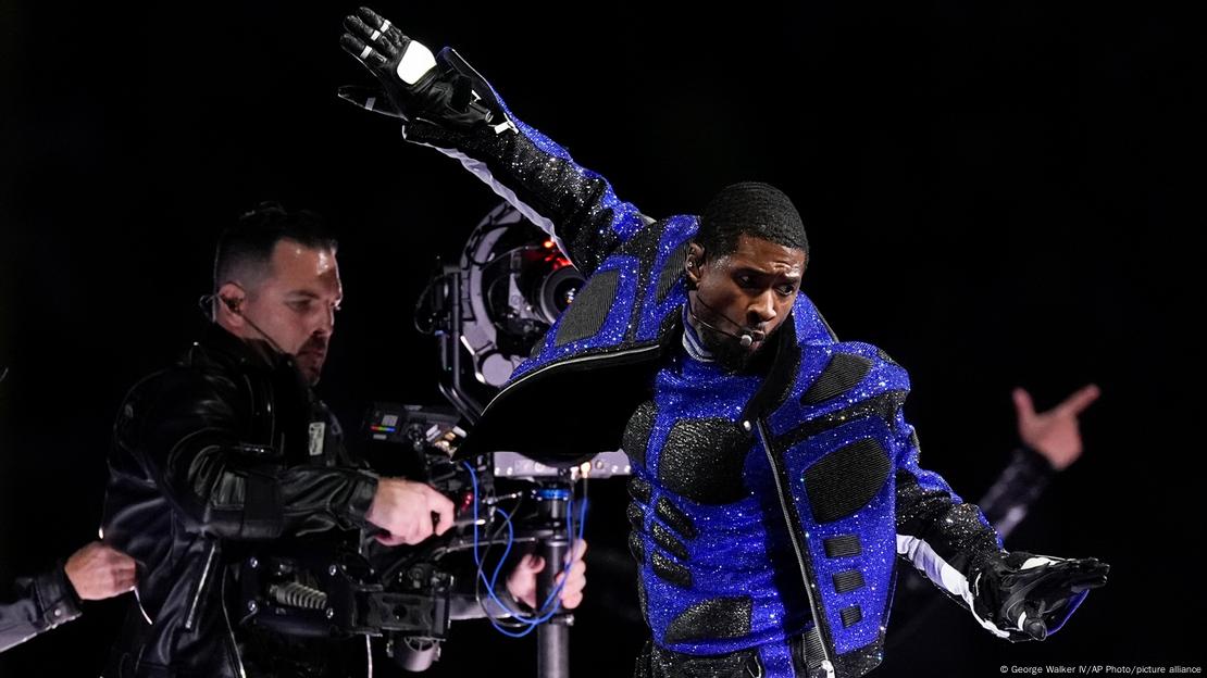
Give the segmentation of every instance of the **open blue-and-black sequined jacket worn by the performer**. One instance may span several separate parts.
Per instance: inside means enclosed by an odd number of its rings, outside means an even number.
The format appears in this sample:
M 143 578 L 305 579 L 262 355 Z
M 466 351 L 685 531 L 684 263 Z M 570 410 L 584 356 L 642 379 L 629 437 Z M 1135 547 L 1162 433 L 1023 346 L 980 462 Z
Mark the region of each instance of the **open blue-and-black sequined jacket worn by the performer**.
M 404 135 L 459 159 L 548 232 L 588 281 L 486 408 L 461 454 L 515 450 L 573 463 L 622 448 L 653 375 L 678 350 L 683 261 L 698 221 L 642 215 L 600 175 L 506 113 L 507 124 L 472 133 L 416 119 Z M 765 457 L 769 491 L 788 527 L 795 585 L 806 592 L 798 596 L 807 598 L 804 619 L 816 621 L 807 624 L 809 672 L 862 676 L 881 657 L 894 556 L 972 609 L 970 574 L 1001 543 L 976 507 L 919 466 L 917 437 L 902 415 L 909 376 L 900 366 L 868 344 L 839 341 L 805 294 L 776 334 L 764 349 L 775 351 L 769 375 L 744 396 L 733 429 L 746 437 L 751 455 Z M 642 455 L 626 451 L 640 462 Z M 665 574 L 657 561 L 675 565 L 692 554 L 651 539 L 649 528 L 670 528 L 689 545 L 694 530 L 676 519 L 690 522 L 700 502 L 659 483 L 657 468 L 636 466 L 631 489 L 647 514 L 636 550 L 643 551 L 643 578 L 657 578 Z M 659 513 L 663 498 L 680 510 Z M 678 618 L 710 616 L 709 600 L 690 590 L 681 600 L 669 616 L 647 612 L 661 647 L 712 654 L 754 642 L 731 630 L 729 637 L 693 637 L 693 624 L 680 625 L 686 635 L 669 633 Z M 978 621 L 998 636 L 1021 637 Z

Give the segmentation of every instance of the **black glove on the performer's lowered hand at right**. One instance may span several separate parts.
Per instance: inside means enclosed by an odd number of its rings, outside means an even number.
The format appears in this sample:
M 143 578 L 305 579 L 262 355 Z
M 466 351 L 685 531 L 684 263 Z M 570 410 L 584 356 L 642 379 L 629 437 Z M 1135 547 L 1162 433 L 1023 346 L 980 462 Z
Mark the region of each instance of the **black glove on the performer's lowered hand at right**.
M 1092 557 L 1066 560 L 1024 551 L 995 555 L 974 575 L 974 612 L 1009 631 L 1014 639 L 1042 641 L 1060 629 L 1086 591 L 1107 583 L 1109 569 Z

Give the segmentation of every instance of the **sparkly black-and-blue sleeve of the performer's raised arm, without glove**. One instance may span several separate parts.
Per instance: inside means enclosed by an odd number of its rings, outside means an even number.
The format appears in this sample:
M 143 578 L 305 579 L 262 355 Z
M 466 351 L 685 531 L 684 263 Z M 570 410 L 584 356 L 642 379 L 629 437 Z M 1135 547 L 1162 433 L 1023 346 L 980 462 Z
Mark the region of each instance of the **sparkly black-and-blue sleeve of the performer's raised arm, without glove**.
M 509 112 L 508 112 L 509 115 Z M 544 134 L 511 117 L 512 127 L 455 131 L 425 121 L 407 124 L 408 141 L 453 157 L 548 233 L 584 275 L 653 223 L 617 198 L 612 185 L 583 168 Z

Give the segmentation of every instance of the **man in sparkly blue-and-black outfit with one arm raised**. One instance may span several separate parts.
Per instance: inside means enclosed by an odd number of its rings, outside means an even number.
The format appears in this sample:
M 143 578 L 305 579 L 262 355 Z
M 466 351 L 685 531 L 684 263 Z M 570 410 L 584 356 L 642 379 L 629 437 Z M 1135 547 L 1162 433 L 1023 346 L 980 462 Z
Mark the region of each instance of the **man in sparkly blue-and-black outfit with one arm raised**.
M 1106 581 L 1094 559 L 1004 551 L 919 466 L 909 376 L 799 293 L 809 245 L 783 193 L 740 183 L 699 217 L 649 218 L 456 52 L 367 8 L 345 28 L 383 89 L 340 95 L 459 159 L 588 276 L 461 452 L 629 454 L 652 631 L 639 676 L 861 676 L 881 660 L 897 556 L 1015 641 Z

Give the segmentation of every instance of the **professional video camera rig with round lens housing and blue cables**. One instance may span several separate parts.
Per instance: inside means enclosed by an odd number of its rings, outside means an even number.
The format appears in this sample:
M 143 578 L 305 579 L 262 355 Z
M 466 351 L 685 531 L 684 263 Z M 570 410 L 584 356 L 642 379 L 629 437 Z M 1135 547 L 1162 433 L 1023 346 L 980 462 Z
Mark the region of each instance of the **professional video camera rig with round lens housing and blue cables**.
M 441 391 L 457 411 L 377 403 L 365 422 L 366 456 L 379 472 L 424 480 L 450 497 L 454 526 L 414 548 L 299 543 L 240 568 L 243 623 L 302 636 L 385 636 L 409 671 L 438 657 L 449 624 L 477 613 L 508 635 L 538 633 L 538 673 L 568 673 L 567 626 L 554 577 L 538 575 L 538 607 L 520 610 L 503 581 L 508 556 L 538 551 L 560 563 L 585 520 L 588 478 L 626 475 L 623 452 L 547 466 L 495 451 L 454 461 L 482 404 L 523 362 L 583 277 L 554 244 L 506 205 L 471 234 L 459 267 L 442 268 L 416 304 L 415 323 L 441 339 Z M 467 357 L 468 360 L 462 360 Z M 540 434 L 540 432 L 533 432 Z

